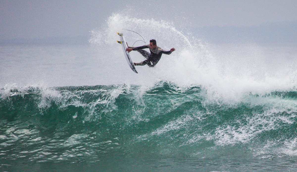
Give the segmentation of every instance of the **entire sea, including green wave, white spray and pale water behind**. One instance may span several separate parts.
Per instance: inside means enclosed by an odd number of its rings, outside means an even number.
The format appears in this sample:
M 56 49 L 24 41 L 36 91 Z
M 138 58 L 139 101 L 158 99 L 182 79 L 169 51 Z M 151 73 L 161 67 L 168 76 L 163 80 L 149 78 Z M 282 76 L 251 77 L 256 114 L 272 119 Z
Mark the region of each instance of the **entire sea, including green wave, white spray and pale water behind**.
M 136 74 L 122 29 L 176 51 Z M 87 45 L 0 46 L 0 171 L 296 171 L 296 43 L 193 33 L 113 14 Z

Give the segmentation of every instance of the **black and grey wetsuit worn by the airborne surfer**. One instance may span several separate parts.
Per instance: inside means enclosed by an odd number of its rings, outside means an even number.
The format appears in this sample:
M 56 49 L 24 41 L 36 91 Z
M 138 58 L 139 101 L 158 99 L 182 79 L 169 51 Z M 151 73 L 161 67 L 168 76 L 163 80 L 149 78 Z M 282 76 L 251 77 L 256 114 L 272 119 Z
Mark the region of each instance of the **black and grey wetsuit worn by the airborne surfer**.
M 148 65 L 149 67 L 154 67 L 158 61 L 161 59 L 162 54 L 171 54 L 171 51 L 164 51 L 160 47 L 157 47 L 155 49 L 149 48 L 149 45 L 143 45 L 140 47 L 130 47 L 132 50 L 138 51 L 141 55 L 143 55 L 146 60 L 141 62 L 141 65 Z M 143 50 L 145 48 L 149 48 L 151 53 Z

